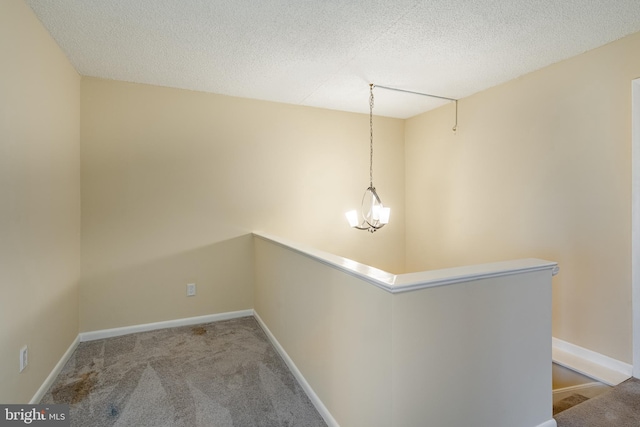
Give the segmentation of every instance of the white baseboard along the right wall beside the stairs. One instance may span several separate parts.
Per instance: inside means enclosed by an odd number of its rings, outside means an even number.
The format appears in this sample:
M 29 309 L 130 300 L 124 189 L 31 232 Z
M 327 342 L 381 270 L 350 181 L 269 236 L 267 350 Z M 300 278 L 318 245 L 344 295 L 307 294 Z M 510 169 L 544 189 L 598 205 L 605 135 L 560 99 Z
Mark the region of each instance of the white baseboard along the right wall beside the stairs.
M 553 338 L 552 348 L 552 359 L 555 363 L 607 385 L 618 385 L 632 376 L 633 367 L 631 365 L 604 354 L 558 338 Z

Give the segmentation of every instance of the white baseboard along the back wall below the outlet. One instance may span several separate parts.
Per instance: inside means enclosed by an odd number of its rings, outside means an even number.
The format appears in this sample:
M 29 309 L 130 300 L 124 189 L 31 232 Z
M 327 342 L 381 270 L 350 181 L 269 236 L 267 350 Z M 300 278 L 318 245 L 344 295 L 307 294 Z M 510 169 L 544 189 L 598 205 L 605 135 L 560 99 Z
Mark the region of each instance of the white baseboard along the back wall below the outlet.
M 119 337 L 137 332 L 155 331 L 157 329 L 176 328 L 179 326 L 199 325 L 201 323 L 218 322 L 220 320 L 237 319 L 253 316 L 253 309 L 231 311 L 228 313 L 209 314 L 206 316 L 187 317 L 184 319 L 165 320 L 162 322 L 145 323 L 142 325 L 124 326 L 122 328 L 102 329 L 99 331 L 80 332 L 80 342 L 94 341 L 103 338 Z

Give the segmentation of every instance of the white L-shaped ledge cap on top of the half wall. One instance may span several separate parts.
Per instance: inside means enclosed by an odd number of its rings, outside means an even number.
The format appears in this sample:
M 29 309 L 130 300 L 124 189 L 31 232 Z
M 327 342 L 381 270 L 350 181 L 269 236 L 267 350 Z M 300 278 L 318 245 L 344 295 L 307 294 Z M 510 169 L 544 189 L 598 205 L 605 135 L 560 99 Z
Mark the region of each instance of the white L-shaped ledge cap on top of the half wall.
M 435 286 L 445 286 L 454 283 L 540 270 L 549 270 L 551 275 L 555 276 L 560 270 L 558 263 L 554 261 L 525 258 L 488 264 L 444 268 L 440 270 L 420 271 L 416 273 L 393 274 L 280 237 L 256 232 L 254 232 L 253 235 L 342 270 L 391 293 L 409 292 Z

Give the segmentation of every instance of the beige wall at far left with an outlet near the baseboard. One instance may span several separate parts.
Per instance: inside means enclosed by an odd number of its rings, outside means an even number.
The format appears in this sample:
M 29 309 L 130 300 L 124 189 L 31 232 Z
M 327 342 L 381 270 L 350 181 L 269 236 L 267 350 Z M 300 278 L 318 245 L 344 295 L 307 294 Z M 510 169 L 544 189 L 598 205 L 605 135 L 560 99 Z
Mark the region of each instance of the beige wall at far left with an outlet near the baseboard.
M 0 402 L 26 403 L 78 334 L 80 77 L 22 1 L 0 63 Z

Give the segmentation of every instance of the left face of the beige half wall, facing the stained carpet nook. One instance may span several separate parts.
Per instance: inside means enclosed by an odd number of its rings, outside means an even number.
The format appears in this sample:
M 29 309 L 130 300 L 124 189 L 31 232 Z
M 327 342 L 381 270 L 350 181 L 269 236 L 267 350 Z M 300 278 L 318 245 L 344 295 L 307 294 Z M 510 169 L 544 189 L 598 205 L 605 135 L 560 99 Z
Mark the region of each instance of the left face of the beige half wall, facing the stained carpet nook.
M 260 237 L 255 310 L 341 426 L 389 427 L 391 294 Z

